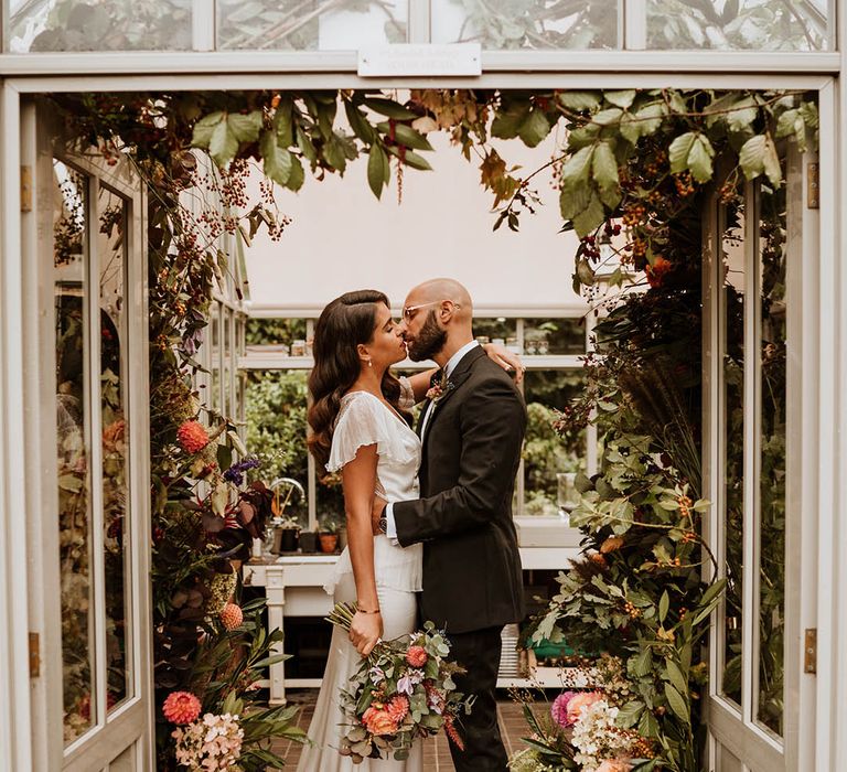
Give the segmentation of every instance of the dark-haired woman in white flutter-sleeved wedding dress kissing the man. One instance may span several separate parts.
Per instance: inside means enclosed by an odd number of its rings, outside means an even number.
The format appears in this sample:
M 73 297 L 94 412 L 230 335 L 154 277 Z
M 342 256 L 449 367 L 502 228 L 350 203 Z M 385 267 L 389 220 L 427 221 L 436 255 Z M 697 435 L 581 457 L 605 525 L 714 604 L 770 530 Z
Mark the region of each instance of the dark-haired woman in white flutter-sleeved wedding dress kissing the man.
M 504 367 L 519 362 L 502 346 L 486 353 Z M 412 632 L 417 624 L 422 545 L 403 548 L 374 536 L 374 497 L 387 502 L 419 495 L 420 440 L 410 426 L 411 407 L 424 398 L 436 371 L 396 378 L 392 365 L 406 358 L 401 325 L 388 299 L 375 290 L 347 292 L 321 313 L 312 344 L 309 378 L 312 407 L 309 450 L 329 472 L 341 471 L 347 522 L 347 548 L 325 587 L 335 602 L 357 603 L 350 633 L 334 628 L 326 668 L 298 772 L 422 772 L 421 743 L 406 761 L 366 759 L 354 765 L 337 749 L 349 722 L 339 700 L 380 637 Z M 519 371 L 518 371 L 519 372 Z

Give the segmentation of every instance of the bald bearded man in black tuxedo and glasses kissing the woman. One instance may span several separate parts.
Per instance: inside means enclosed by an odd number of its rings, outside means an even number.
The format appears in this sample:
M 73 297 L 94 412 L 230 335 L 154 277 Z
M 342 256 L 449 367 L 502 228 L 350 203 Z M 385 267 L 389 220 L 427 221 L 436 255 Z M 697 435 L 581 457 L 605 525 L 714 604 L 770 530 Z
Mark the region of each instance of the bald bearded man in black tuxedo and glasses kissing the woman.
M 503 626 L 524 616 L 512 495 L 526 409 L 474 341 L 472 311 L 468 290 L 452 279 L 427 281 L 406 298 L 409 357 L 435 360 L 441 373 L 418 426 L 421 498 L 377 504 L 374 521 L 404 547 L 424 543 L 422 618 L 447 630 L 468 669 L 457 687 L 476 696 L 463 719 L 464 751 L 450 743 L 457 772 L 504 772 L 494 689 Z

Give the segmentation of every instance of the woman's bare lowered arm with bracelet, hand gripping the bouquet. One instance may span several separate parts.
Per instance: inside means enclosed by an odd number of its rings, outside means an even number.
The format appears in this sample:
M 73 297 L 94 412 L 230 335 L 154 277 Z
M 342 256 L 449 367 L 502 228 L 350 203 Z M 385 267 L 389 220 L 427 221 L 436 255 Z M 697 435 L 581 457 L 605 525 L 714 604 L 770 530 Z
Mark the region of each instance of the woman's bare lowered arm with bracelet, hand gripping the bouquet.
M 383 635 L 371 525 L 377 460 L 376 444 L 363 446 L 356 451 L 356 458 L 345 464 L 341 472 L 347 518 L 347 547 L 356 582 L 356 600 L 363 609 L 353 618 L 350 640 L 362 656 L 367 656 Z

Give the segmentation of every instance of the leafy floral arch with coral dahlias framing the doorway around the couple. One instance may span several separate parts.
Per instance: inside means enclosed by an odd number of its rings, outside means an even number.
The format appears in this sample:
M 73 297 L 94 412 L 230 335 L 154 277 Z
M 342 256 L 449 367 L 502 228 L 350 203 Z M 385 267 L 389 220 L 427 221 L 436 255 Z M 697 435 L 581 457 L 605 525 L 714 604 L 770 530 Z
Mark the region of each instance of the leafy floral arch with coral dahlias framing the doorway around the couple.
M 580 237 L 575 288 L 602 302 L 604 244 L 618 262 L 607 283 L 646 291 L 610 302 L 598 326 L 602 357 L 588 357 L 586 394 L 561 406 L 557 425 L 562 433 L 579 431 L 597 412 L 603 471 L 578 480 L 572 521 L 585 535 L 583 559 L 560 575 L 560 592 L 536 620 L 534 637 L 556 641 L 567 626 L 568 642 L 583 653 L 575 686 L 593 689 L 557 698 L 548 718 L 527 705 L 534 735 L 513 764 L 698 769 L 697 697 L 706 678 L 699 644 L 725 589 L 700 536 L 708 503 L 698 448 L 699 212 L 715 191 L 732 205 L 743 180 L 779 189 L 778 146 L 790 140 L 804 150 L 816 141 L 814 100 L 706 89 L 432 89 L 411 90 L 404 103 L 376 90 L 53 99 L 74 141 L 96 146 L 107 160 L 130 158 L 150 190 L 158 769 L 205 759 L 210 769 L 232 762 L 260 770 L 281 765 L 271 738 L 303 739 L 292 709 L 255 705 L 255 682 L 281 632 L 266 634 L 260 604 L 237 602 L 237 568 L 261 533 L 270 494 L 261 482 L 245 485 L 255 463 L 235 426 L 191 390 L 212 290 L 227 270 L 217 237 L 228 230 L 249 243 L 267 227 L 279 238 L 287 224 L 279 189 L 264 184 L 261 199 L 248 201 L 249 164 L 297 191 L 307 170 L 343 174 L 366 156 L 367 184 L 378 197 L 393 168 L 400 190 L 406 169 L 428 170 L 427 135 L 448 131 L 469 161 L 479 159 L 497 211 L 494 228 L 518 229 L 542 200 L 532 187 L 538 170 L 518 176 L 490 139 L 536 147 L 556 126 L 566 139 L 544 167 L 558 180 L 564 228 Z M 216 173 L 199 168 L 197 152 Z M 204 174 L 223 208 L 213 203 L 194 215 L 180 196 Z M 705 564 L 712 570 L 704 575 Z M 226 741 L 210 749 L 204 727 Z

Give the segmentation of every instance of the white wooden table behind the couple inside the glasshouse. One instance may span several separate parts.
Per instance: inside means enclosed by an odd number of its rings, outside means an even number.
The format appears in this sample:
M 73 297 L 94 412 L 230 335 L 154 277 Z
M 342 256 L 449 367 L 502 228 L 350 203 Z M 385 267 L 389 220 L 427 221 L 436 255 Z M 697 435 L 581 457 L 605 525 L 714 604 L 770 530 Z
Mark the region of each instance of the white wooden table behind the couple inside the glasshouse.
M 579 532 L 542 517 L 515 518 L 515 523 L 524 570 L 564 569 L 567 568 L 569 560 L 578 556 Z M 287 616 L 324 616 L 330 612 L 332 598 L 324 592 L 323 586 L 331 578 L 337 559 L 337 555 L 290 555 L 272 558 L 270 561 L 259 559 L 244 565 L 245 586 L 265 588 L 269 630 L 282 630 Z M 283 641 L 277 643 L 272 653 L 283 654 Z M 271 665 L 268 671 L 269 679 L 264 685 L 270 690 L 270 705 L 286 703 L 286 687 L 303 688 L 321 685 L 320 678 L 287 680 L 285 662 Z M 502 684 L 498 683 L 498 686 L 537 684 L 542 675 L 544 674 L 537 673 L 535 679 L 504 679 Z M 555 675 L 550 677 L 558 683 Z

